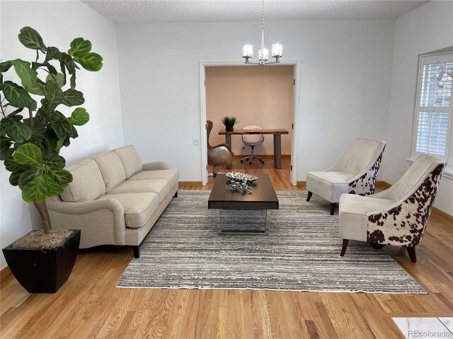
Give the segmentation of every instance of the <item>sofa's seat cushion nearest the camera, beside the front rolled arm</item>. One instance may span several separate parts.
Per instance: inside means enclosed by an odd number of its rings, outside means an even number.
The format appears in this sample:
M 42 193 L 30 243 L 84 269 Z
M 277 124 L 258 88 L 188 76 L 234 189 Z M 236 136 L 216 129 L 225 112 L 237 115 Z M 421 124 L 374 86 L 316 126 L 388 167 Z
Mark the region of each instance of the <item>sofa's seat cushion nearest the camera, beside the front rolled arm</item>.
M 101 199 L 115 199 L 125 210 L 127 227 L 142 227 L 159 206 L 159 197 L 155 193 L 108 194 Z

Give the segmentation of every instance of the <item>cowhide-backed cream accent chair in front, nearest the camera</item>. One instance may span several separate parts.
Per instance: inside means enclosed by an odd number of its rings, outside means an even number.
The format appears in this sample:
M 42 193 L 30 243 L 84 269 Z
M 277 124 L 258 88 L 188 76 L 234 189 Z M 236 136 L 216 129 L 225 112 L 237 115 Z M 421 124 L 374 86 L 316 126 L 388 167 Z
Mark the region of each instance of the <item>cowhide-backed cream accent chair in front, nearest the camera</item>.
M 350 240 L 374 248 L 404 246 L 414 263 L 415 246 L 422 241 L 445 161 L 419 155 L 393 186 L 372 196 L 343 194 L 340 198 L 340 238 L 345 255 Z

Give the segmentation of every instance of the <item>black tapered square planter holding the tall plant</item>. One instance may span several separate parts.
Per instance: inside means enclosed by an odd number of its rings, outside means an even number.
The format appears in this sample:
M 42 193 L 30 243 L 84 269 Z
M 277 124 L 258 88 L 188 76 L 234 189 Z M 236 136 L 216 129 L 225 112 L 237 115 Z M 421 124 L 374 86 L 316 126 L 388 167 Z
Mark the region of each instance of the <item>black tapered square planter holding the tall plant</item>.
M 80 230 L 57 249 L 3 249 L 9 269 L 30 293 L 55 293 L 69 278 L 79 250 Z

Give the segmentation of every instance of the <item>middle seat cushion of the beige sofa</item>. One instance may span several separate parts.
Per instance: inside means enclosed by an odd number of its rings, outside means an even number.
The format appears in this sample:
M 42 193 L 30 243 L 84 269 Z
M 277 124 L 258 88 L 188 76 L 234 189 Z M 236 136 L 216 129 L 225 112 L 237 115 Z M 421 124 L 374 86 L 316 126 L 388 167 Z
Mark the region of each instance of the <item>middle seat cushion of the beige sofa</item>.
M 159 203 L 164 200 L 171 191 L 170 182 L 165 179 L 148 179 L 148 180 L 126 180 L 108 193 L 125 194 L 125 193 L 155 193 L 159 196 Z

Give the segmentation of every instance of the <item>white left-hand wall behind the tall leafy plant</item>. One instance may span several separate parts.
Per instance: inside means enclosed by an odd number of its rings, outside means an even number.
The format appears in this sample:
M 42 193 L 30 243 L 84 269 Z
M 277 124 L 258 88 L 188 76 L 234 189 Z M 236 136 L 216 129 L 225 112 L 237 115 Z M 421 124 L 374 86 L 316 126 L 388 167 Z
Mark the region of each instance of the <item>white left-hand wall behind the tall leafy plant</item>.
M 67 164 L 122 145 L 115 25 L 80 1 L 1 1 L 0 6 L 2 60 L 34 59 L 35 52 L 18 42 L 19 30 L 25 25 L 38 30 L 47 46 L 60 50 L 69 49 L 74 37 L 84 37 L 92 42 L 93 51 L 104 59 L 101 71 L 81 70 L 77 74 L 77 89 L 84 93 L 83 107 L 90 113 L 91 121 L 78 129 L 79 138 L 62 151 Z M 71 112 L 71 109 L 61 108 L 64 113 Z M 0 171 L 3 248 L 32 228 L 40 228 L 40 218 L 33 205 L 23 202 L 21 191 L 8 183 L 10 173 L 3 162 Z M 3 254 L 0 266 L 6 266 Z

